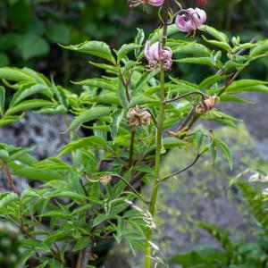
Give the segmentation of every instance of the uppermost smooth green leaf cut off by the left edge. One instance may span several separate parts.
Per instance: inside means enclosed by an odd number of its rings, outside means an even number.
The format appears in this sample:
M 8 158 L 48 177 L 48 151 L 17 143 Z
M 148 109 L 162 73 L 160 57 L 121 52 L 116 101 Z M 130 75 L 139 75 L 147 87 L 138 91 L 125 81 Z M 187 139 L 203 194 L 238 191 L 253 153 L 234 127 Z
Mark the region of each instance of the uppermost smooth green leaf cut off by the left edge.
M 34 79 L 26 72 L 19 68 L 2 67 L 0 68 L 0 79 L 11 80 L 14 82 L 29 81 L 32 82 Z

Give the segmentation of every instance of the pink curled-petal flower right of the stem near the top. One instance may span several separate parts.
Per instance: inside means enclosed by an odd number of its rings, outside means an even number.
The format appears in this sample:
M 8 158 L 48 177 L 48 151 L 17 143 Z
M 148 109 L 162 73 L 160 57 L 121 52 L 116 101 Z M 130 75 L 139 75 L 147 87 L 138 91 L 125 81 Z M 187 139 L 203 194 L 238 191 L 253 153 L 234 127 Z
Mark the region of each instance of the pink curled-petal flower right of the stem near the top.
M 205 21 L 206 14 L 204 10 L 188 8 L 184 14 L 177 16 L 175 23 L 181 31 L 191 32 L 198 29 Z

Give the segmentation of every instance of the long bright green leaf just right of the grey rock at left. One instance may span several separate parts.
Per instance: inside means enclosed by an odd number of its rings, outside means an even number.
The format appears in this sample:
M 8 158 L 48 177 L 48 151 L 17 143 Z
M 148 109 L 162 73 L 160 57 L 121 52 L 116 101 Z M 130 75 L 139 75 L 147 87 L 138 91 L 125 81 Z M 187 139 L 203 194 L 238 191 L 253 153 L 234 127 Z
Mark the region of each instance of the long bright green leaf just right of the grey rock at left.
M 105 141 L 104 138 L 101 138 L 99 136 L 80 138 L 78 140 L 71 141 L 71 143 L 62 147 L 60 149 L 62 152 L 58 156 L 71 153 L 72 151 L 78 150 L 80 148 L 88 148 L 88 147 L 96 147 L 96 146 L 107 147 L 107 142 Z

